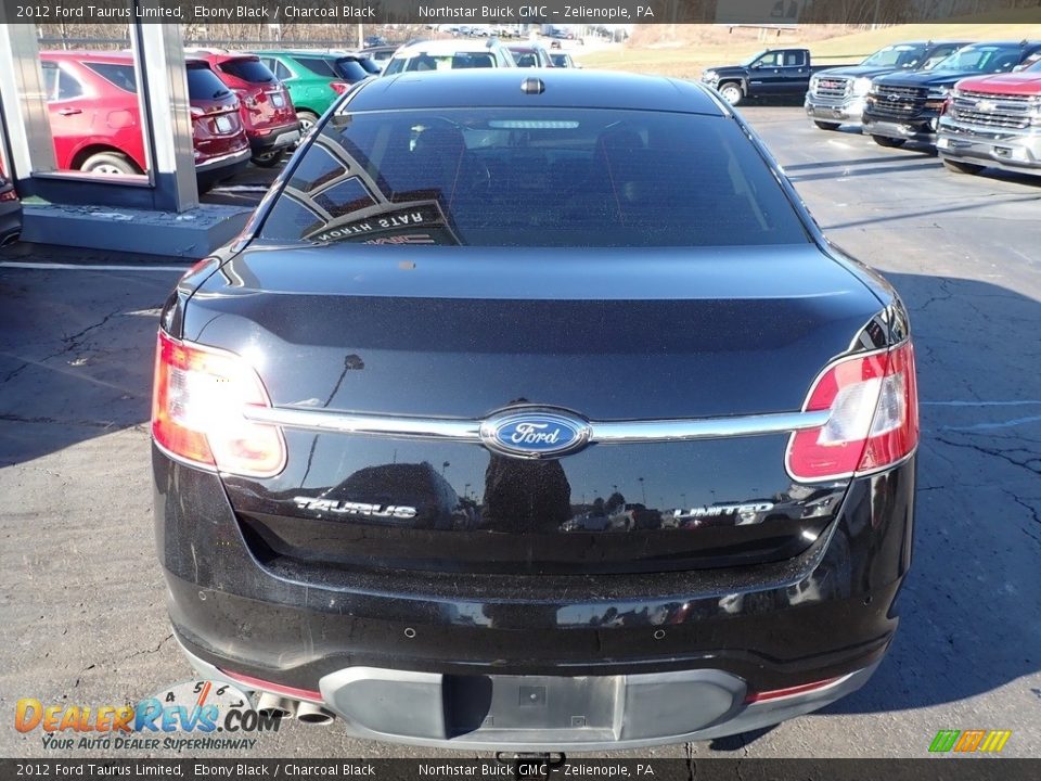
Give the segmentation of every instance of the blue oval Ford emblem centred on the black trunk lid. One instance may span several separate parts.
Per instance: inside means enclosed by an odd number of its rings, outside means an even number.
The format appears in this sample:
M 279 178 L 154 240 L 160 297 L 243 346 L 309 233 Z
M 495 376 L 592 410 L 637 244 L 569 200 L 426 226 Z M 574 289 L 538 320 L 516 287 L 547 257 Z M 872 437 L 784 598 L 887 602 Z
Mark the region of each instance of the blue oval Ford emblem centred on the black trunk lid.
M 505 410 L 480 424 L 490 450 L 514 458 L 560 458 L 589 444 L 589 423 L 564 410 Z

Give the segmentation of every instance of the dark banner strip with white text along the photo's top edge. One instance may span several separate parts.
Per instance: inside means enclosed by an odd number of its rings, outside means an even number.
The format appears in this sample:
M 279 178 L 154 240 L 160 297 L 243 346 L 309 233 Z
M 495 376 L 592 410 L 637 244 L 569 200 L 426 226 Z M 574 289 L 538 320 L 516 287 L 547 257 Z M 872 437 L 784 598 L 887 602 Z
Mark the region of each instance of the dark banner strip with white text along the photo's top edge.
M 0 0 L 26 24 L 633 25 L 1038 23 L 1041 0 Z

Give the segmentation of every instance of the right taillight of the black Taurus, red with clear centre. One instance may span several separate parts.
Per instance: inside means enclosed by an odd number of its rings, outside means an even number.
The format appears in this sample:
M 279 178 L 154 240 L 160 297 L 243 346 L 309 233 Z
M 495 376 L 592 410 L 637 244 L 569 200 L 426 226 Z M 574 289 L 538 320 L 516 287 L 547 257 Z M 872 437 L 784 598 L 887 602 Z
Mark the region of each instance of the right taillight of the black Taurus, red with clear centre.
M 844 358 L 818 377 L 806 411 L 830 412 L 827 422 L 796 432 L 788 441 L 788 474 L 817 482 L 874 472 L 897 463 L 918 444 L 914 348 Z

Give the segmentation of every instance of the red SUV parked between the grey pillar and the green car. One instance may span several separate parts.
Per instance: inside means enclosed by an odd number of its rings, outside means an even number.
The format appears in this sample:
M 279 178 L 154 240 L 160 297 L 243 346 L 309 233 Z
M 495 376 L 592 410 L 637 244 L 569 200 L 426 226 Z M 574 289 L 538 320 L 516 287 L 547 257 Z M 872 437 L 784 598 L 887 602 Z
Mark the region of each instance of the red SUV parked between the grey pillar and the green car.
M 265 168 L 275 165 L 282 153 L 300 140 L 290 92 L 256 54 L 195 50 L 230 87 L 242 104 L 240 116 L 253 150 L 253 162 Z

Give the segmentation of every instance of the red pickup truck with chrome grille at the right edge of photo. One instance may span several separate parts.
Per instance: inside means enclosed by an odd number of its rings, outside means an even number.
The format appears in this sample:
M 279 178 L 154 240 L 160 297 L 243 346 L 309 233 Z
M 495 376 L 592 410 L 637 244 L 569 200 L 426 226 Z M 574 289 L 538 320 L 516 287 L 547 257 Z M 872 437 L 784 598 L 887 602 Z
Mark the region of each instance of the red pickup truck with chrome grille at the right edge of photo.
M 1041 176 L 1041 60 L 954 86 L 940 117 L 937 152 L 959 174 L 992 166 Z

